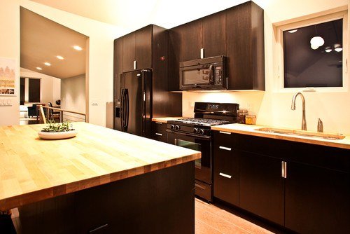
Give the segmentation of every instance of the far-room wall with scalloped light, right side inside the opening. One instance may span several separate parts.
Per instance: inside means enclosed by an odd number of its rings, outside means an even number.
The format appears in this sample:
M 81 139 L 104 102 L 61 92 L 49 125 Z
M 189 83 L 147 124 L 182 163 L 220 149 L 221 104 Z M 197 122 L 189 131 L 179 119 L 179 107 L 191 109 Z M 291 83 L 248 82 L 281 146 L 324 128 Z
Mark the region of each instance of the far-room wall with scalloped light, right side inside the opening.
M 61 80 L 61 109 L 85 113 L 85 74 Z M 66 113 L 72 121 L 84 121 L 81 115 Z

